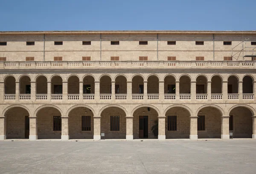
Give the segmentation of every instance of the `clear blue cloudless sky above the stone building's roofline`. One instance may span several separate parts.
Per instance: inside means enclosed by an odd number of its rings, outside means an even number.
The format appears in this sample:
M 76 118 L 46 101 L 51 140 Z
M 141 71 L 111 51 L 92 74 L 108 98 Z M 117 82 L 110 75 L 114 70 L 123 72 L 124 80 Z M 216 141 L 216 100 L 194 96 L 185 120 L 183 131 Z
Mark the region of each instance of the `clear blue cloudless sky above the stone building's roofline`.
M 256 30 L 256 0 L 0 0 L 0 31 Z

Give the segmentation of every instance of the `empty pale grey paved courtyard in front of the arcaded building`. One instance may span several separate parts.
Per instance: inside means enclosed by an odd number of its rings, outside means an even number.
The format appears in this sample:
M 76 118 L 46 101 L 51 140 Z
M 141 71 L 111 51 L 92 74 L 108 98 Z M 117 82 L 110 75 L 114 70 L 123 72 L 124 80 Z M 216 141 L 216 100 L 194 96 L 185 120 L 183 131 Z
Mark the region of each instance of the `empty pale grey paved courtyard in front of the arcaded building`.
M 0 142 L 1 174 L 255 174 L 256 140 Z

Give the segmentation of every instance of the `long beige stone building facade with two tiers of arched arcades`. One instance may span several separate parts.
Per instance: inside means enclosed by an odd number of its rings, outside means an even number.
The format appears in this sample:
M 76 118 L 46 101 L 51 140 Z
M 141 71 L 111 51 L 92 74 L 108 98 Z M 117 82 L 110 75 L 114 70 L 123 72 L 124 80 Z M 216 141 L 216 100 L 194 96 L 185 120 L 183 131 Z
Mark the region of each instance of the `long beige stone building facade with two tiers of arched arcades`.
M 0 32 L 0 139 L 256 139 L 256 31 Z

